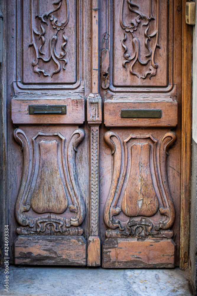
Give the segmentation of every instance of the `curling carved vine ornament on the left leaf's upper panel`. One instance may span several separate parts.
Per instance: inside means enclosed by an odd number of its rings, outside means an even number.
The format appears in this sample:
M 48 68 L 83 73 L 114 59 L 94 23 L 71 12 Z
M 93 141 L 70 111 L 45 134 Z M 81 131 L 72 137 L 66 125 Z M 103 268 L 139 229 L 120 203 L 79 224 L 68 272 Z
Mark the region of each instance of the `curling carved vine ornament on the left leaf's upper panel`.
M 53 77 L 53 74 L 58 73 L 61 67 L 65 70 L 67 37 L 64 28 L 68 21 L 68 0 L 58 0 L 53 3 L 51 1 L 31 0 L 32 42 L 29 46 L 33 46 L 35 49 L 35 60 L 32 61 L 32 66 L 34 72 L 38 73 L 39 76 L 40 73 L 43 73 L 44 76 L 51 75 Z M 61 30 L 64 31 L 60 33 Z M 61 45 L 59 42 L 61 42 Z M 57 46 L 59 53 L 56 49 Z M 40 60 L 41 65 L 53 60 L 55 67 L 51 73 L 47 73 L 44 68 L 39 67 Z M 61 61 L 63 66 L 61 66 Z

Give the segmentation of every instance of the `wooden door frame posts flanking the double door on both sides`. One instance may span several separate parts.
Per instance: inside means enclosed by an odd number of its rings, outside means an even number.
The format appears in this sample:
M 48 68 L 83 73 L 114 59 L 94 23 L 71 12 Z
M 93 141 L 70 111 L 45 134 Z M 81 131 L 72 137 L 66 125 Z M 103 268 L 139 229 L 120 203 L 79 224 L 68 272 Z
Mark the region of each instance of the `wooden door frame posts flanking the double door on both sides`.
M 181 221 L 180 221 L 180 269 L 188 266 L 190 232 L 190 194 L 191 194 L 191 131 L 192 131 L 192 54 L 193 26 L 185 23 L 185 3 L 182 0 L 182 151 L 181 151 Z M 3 63 L 1 70 L 1 139 L 0 139 L 0 203 L 3 211 L 0 215 L 1 250 L 0 265 L 4 257 L 4 225 L 8 223 L 7 213 L 7 118 L 6 118 L 6 4 L 1 2 L 4 15 Z M 176 8 L 177 9 L 177 8 Z M 9 120 L 9 119 L 8 119 Z M 10 246 L 11 247 L 11 246 Z

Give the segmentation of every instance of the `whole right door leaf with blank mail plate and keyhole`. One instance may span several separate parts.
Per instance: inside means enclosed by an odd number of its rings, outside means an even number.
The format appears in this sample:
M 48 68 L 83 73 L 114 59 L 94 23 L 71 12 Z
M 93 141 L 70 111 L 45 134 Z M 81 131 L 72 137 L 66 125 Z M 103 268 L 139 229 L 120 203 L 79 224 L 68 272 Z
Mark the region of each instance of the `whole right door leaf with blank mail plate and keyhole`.
M 174 267 L 180 243 L 178 1 L 100 6 L 102 266 Z M 153 112 L 153 113 L 152 113 Z

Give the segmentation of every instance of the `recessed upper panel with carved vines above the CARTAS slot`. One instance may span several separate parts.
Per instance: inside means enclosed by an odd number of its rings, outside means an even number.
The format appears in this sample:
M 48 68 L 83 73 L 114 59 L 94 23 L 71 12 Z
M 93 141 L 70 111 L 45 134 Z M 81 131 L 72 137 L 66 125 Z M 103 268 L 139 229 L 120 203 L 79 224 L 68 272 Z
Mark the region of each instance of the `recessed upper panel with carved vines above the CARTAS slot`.
M 76 82 L 76 1 L 24 0 L 23 83 Z

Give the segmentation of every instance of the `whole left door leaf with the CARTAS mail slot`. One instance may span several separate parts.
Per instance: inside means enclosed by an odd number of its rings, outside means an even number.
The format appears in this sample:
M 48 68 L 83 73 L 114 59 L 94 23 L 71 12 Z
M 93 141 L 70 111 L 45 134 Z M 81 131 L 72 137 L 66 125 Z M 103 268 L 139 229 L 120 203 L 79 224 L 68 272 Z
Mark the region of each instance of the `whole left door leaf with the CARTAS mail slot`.
M 88 238 L 98 236 L 97 221 L 90 233 L 91 139 L 84 124 L 85 98 L 92 91 L 91 75 L 84 79 L 91 65 L 84 38 L 91 27 L 90 8 L 91 1 L 79 0 L 12 0 L 8 5 L 9 15 L 16 11 L 7 45 L 13 39 L 9 215 L 10 256 L 16 264 L 87 265 Z M 96 133 L 93 128 L 95 145 Z M 97 151 L 92 163 L 98 167 Z

